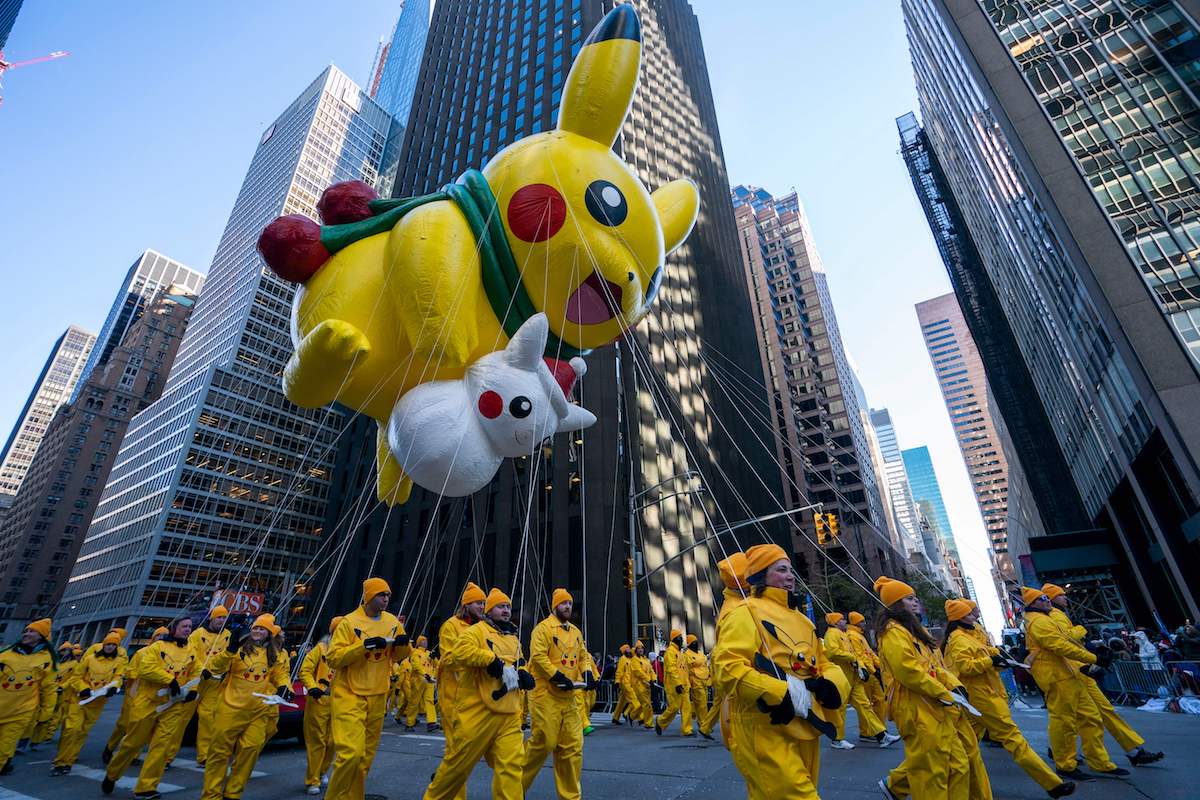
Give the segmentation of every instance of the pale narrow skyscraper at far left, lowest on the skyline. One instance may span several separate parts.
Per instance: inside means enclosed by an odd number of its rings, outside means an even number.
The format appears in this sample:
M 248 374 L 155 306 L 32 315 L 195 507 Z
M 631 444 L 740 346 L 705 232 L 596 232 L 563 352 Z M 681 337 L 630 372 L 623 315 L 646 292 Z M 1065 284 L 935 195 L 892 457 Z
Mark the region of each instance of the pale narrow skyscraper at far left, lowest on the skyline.
M 95 343 L 95 333 L 71 325 L 50 348 L 50 355 L 0 451 L 0 499 L 5 506 L 25 480 L 54 413 L 71 398 Z

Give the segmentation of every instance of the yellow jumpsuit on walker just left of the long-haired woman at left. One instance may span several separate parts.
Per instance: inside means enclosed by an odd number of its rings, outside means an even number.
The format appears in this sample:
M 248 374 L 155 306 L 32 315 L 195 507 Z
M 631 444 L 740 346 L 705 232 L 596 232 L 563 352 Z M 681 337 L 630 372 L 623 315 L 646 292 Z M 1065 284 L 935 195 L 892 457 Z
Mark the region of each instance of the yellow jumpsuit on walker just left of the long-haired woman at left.
M 138 693 L 125 698 L 126 703 L 132 700 L 128 728 L 106 770 L 108 780 L 118 780 L 142 752 L 142 747 L 149 744 L 150 750 L 142 762 L 134 793 L 158 788 L 167 762 L 179 751 L 184 728 L 196 710 L 192 702 L 180 697 L 178 703 L 158 712 L 157 708 L 170 699 L 169 696 L 161 697 L 158 690 L 166 688 L 173 680 L 182 687 L 200 673 L 196 651 L 186 640 L 180 644 L 175 639 L 163 639 L 148 645 L 142 652 L 144 655 L 138 658 L 137 672 Z

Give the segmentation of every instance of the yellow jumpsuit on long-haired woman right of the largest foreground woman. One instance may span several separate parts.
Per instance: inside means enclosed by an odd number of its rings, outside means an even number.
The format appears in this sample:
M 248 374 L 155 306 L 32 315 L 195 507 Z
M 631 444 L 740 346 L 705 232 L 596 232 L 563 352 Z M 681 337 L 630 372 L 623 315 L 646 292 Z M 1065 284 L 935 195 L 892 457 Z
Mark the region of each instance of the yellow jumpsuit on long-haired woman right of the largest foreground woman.
M 905 746 L 904 762 L 888 776 L 888 788 L 917 800 L 976 798 L 961 733 L 964 728 L 970 732 L 970 726 L 950 694 L 961 686 L 958 678 L 943 667 L 936 649 L 895 621 L 880 637 L 880 660 L 888 674 L 888 714 Z M 973 741 L 973 734 L 967 735 Z M 978 757 L 978 747 L 974 752 Z

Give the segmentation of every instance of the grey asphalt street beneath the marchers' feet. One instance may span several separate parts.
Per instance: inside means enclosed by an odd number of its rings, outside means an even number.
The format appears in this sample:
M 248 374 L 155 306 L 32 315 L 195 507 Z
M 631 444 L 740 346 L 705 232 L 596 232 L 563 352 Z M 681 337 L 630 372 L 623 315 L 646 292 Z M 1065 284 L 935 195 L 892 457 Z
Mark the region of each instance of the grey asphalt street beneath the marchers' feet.
M 118 706 L 104 710 L 80 754 L 72 775 L 49 777 L 55 745 L 42 745 L 36 752 L 18 754 L 16 772 L 0 778 L 0 800 L 79 800 L 100 798 L 100 751 L 116 718 Z M 1148 714 L 1122 710 L 1124 717 L 1146 738 L 1147 744 L 1166 752 L 1159 764 L 1134 770 L 1126 780 L 1098 778 L 1080 786 L 1076 798 L 1104 800 L 1194 800 L 1200 796 L 1200 759 L 1195 757 L 1200 744 L 1200 718 L 1178 714 Z M 1044 753 L 1048 746 L 1045 711 L 1018 705 L 1018 724 L 1030 744 Z M 594 715 L 595 733 L 584 740 L 583 796 L 630 798 L 654 796 L 728 800 L 744 798 L 745 789 L 728 751 L 720 741 L 706 741 L 679 735 L 678 722 L 664 736 L 644 729 L 632 730 L 612 726 L 605 715 Z M 853 711 L 851 730 L 857 729 Z M 379 754 L 367 780 L 370 794 L 388 800 L 420 798 L 428 776 L 437 768 L 444 739 L 440 734 L 416 733 L 389 720 L 384 727 Z M 1110 753 L 1127 765 L 1116 744 L 1109 740 Z M 203 775 L 192 763 L 194 752 L 184 748 L 176 764 L 167 771 L 160 790 L 168 798 L 196 798 Z M 823 800 L 859 800 L 882 798 L 876 781 L 904 757 L 902 745 L 880 750 L 874 744 L 859 745 L 853 751 L 836 751 L 826 746 L 821 754 L 821 786 Z M 1013 764 L 1000 748 L 984 747 L 984 760 L 991 776 L 996 800 L 1044 798 L 1045 794 Z M 254 777 L 246 788 L 245 800 L 282 800 L 304 796 L 304 747 L 295 740 L 275 741 L 263 751 Z M 119 784 L 114 798 L 131 798 L 133 772 Z M 491 770 L 480 764 L 468 786 L 469 798 L 490 796 Z M 554 798 L 554 781 L 547 763 L 532 787 L 530 799 Z

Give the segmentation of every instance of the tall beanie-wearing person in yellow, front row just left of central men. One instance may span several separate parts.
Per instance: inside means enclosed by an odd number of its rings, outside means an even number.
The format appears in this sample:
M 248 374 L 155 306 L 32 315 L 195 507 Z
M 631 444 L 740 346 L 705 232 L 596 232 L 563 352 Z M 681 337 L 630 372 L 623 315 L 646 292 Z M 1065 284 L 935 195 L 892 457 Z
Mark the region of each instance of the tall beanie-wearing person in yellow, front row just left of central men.
M 362 604 L 342 618 L 325 656 L 334 670 L 334 774 L 326 793 L 337 800 L 362 800 L 383 730 L 391 663 L 412 650 L 404 626 L 388 613 L 389 602 L 386 581 L 364 581 Z

